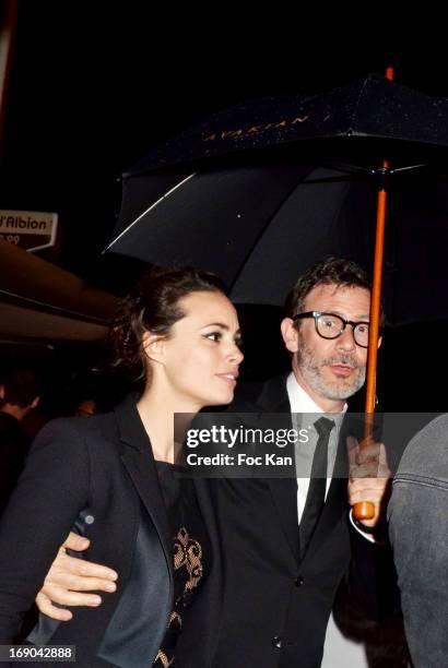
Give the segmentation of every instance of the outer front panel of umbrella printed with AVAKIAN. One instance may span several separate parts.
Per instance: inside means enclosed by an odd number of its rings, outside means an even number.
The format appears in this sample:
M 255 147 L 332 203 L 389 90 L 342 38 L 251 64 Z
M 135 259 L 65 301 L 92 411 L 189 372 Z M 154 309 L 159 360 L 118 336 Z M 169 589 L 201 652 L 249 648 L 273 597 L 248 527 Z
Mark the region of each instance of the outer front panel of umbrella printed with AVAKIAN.
M 275 148 L 284 156 L 291 148 L 314 153 L 316 142 L 337 140 L 335 152 L 346 139 L 375 140 L 378 158 L 391 142 L 410 143 L 411 155 L 425 157 L 428 148 L 448 146 L 448 99 L 425 95 L 379 74 L 369 74 L 346 86 L 311 96 L 270 97 L 220 111 L 168 141 L 142 159 L 125 178 L 148 169 L 192 160 L 233 159 L 235 155 Z M 381 140 L 385 140 L 384 142 Z M 352 146 L 353 147 L 353 146 Z M 332 147 L 333 148 L 333 147 Z M 363 145 L 362 151 L 365 151 Z M 359 154 L 362 155 L 362 153 Z M 341 156 L 340 156 L 341 157 Z M 372 156 L 367 156 L 372 157 Z

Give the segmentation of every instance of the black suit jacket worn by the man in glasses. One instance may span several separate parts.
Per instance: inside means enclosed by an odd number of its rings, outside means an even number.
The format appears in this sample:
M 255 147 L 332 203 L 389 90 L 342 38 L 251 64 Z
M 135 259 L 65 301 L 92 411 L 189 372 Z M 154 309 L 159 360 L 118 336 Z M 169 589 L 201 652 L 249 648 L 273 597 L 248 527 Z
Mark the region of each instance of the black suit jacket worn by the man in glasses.
M 291 427 L 286 375 L 268 381 L 231 410 L 285 413 Z M 320 666 L 332 603 L 344 576 L 376 612 L 376 560 L 384 559 L 382 548 L 350 524 L 343 431 L 337 466 L 344 477 L 333 477 L 303 559 L 294 474 L 288 479 L 213 481 L 225 562 L 215 668 Z

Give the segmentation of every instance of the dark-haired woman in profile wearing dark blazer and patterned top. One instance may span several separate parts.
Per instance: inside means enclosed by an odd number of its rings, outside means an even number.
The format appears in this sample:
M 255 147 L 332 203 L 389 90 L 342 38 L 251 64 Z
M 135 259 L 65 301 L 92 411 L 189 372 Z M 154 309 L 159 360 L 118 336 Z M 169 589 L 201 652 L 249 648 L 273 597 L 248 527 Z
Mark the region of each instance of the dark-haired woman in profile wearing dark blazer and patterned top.
M 75 526 L 92 540 L 89 558 L 120 573 L 118 596 L 63 624 L 42 618 L 30 641 L 75 645 L 83 667 L 169 666 L 175 656 L 208 666 L 219 537 L 207 481 L 174 475 L 173 417 L 232 401 L 238 319 L 221 282 L 193 269 L 153 270 L 125 307 L 113 338 L 119 363 L 141 367 L 144 391 L 38 436 L 0 526 L 0 644 L 14 641 Z

